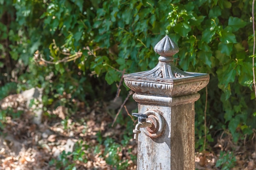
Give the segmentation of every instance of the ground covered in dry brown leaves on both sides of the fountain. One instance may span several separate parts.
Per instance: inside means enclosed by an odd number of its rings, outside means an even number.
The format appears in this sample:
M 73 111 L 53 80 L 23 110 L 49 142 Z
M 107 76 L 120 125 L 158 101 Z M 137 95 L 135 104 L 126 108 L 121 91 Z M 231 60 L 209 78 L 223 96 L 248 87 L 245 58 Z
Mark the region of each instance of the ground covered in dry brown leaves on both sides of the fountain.
M 41 124 L 26 109 L 17 118 L 7 116 L 0 170 L 136 170 L 137 141 L 127 132 L 136 121 L 127 125 L 131 118 L 123 113 L 112 127 L 115 112 L 104 103 L 81 108 L 70 114 L 59 106 Z M 235 145 L 229 135 L 220 136 L 211 151 L 195 154 L 198 170 L 256 170 L 255 163 L 254 141 Z

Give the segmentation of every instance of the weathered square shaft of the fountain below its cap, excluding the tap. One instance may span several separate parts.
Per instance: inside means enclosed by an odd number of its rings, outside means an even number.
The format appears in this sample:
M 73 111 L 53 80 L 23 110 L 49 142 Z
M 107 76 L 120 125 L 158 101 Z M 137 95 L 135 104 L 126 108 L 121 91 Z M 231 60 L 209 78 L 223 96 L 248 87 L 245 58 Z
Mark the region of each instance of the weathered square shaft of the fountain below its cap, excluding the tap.
M 134 95 L 135 101 L 136 96 L 138 95 Z M 151 105 L 154 100 L 150 99 L 150 96 L 144 96 L 144 104 L 139 104 L 139 113 L 158 110 L 166 122 L 164 133 L 158 138 L 146 136 L 146 129 L 141 129 L 138 138 L 138 170 L 195 169 L 194 102 L 199 97 L 198 93 L 189 97 L 173 97 L 166 100 L 169 102 L 154 106 Z M 180 102 L 182 98 L 187 102 Z

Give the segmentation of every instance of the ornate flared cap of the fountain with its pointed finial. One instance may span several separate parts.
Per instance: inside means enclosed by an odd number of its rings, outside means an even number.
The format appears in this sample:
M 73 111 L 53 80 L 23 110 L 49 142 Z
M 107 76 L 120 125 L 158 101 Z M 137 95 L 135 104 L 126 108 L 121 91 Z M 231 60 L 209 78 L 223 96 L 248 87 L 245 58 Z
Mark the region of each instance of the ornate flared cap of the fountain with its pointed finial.
M 173 63 L 178 46 L 165 36 L 154 47 L 159 63 L 149 71 L 124 75 L 124 82 L 137 94 L 180 96 L 198 92 L 209 83 L 209 74 L 184 72 Z

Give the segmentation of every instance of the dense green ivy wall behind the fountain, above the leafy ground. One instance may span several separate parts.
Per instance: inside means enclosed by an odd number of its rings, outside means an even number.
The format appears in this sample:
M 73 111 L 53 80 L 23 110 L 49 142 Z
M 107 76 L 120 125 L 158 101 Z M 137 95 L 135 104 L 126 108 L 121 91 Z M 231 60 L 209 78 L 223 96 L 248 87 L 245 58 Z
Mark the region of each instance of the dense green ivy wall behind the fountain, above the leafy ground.
M 196 146 L 206 97 L 208 141 L 225 129 L 252 138 L 251 11 L 252 0 L 0 0 L 0 98 L 38 86 L 45 110 L 112 99 L 124 70 L 155 67 L 153 47 L 168 34 L 178 67 L 210 74 L 195 104 Z

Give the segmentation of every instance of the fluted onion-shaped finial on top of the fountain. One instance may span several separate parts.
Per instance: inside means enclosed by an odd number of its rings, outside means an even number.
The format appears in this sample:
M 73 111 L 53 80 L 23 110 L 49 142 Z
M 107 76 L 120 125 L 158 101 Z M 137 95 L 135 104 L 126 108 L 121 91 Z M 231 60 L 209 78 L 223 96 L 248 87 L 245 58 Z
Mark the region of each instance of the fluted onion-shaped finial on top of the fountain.
M 179 52 L 179 47 L 166 35 L 155 45 L 154 50 L 160 56 L 171 57 Z

